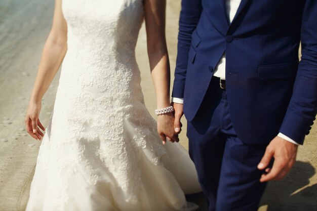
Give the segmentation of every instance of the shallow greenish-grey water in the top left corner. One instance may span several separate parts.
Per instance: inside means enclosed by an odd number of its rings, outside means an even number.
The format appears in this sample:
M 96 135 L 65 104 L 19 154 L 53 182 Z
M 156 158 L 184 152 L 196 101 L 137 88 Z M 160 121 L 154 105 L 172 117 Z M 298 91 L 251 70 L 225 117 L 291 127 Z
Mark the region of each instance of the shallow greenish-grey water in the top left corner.
M 9 71 L 21 53 L 31 53 L 36 40 L 43 39 L 43 33 L 50 28 L 53 9 L 54 1 L 48 0 L 0 2 L 0 74 Z

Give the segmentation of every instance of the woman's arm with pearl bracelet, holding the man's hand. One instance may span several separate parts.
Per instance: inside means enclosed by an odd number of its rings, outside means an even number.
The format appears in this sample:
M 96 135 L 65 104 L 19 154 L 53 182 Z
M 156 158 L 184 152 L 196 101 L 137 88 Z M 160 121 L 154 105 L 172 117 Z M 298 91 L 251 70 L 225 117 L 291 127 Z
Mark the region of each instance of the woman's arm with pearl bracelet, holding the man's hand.
M 144 0 L 147 53 L 155 88 L 157 108 L 170 104 L 170 64 L 165 37 L 166 0 Z M 166 139 L 179 141 L 174 132 L 174 114 L 167 113 L 157 118 L 157 131 L 163 143 Z

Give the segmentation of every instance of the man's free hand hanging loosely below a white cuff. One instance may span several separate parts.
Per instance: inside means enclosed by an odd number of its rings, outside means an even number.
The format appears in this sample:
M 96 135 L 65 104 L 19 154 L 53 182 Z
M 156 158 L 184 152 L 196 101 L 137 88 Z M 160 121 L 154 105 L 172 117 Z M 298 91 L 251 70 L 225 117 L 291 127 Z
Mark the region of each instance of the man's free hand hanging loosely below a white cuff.
M 267 174 L 261 176 L 260 182 L 282 179 L 292 168 L 296 160 L 298 145 L 276 136 L 267 146 L 265 154 L 258 164 L 259 170 Z M 268 168 L 274 158 L 272 169 Z

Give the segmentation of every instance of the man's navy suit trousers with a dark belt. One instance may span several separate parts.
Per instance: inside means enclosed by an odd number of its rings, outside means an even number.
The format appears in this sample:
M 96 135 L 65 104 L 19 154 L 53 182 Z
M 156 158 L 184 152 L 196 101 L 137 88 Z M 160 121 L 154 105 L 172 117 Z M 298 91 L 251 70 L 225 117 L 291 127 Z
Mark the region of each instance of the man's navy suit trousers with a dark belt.
M 208 210 L 257 210 L 266 186 L 257 165 L 267 145 L 246 145 L 237 137 L 219 78 L 212 78 L 199 112 L 188 122 L 187 136 Z

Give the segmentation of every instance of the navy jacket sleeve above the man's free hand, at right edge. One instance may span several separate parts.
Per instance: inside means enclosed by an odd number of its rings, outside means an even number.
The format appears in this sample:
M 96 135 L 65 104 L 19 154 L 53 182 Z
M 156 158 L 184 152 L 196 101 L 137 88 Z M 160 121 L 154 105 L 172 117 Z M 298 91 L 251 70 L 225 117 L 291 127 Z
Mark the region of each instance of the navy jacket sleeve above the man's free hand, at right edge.
M 299 144 L 317 112 L 317 1 L 306 0 L 301 29 L 302 57 L 294 83 L 293 95 L 280 132 Z

